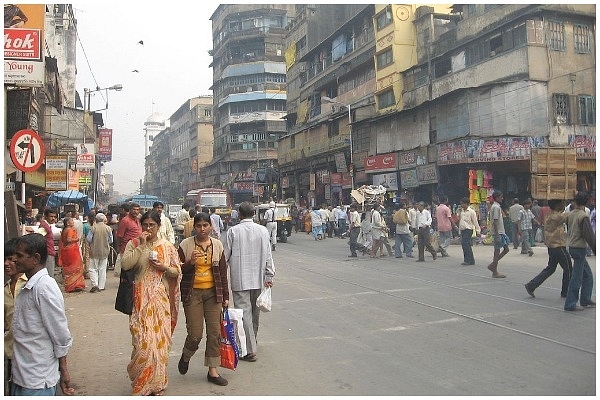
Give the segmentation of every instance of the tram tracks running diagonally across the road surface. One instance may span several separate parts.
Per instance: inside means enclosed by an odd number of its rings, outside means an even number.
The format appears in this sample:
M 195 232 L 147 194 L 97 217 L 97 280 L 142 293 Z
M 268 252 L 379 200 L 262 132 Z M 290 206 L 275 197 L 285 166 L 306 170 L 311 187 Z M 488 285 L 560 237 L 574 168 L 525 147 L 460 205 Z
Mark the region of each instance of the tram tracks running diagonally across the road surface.
M 306 250 L 306 248 L 302 247 L 302 249 Z M 314 258 L 315 261 L 314 262 L 309 262 L 309 265 L 315 265 L 316 264 L 316 260 L 318 259 L 318 263 L 322 264 L 323 262 L 327 263 L 327 262 L 345 262 L 341 261 L 339 259 L 339 257 L 336 257 L 334 254 L 336 253 L 332 253 L 332 255 L 334 256 L 330 256 L 327 254 L 316 254 L 314 252 L 311 253 L 306 253 L 301 251 L 301 248 L 289 248 L 286 249 L 286 253 L 292 253 L 292 254 L 296 254 L 298 256 L 303 256 L 303 257 L 311 257 Z M 283 253 L 283 252 L 281 252 Z M 283 254 L 282 254 L 283 255 Z M 353 259 L 352 261 L 355 261 L 356 259 Z M 393 259 L 395 260 L 395 259 Z M 312 261 L 312 260 L 311 260 Z M 388 263 L 385 263 L 388 264 Z M 385 265 L 384 264 L 384 265 Z M 360 266 L 361 268 L 363 267 L 362 265 Z M 504 300 L 504 301 L 509 301 L 509 302 L 515 302 L 515 303 L 519 303 L 519 304 L 525 304 L 527 306 L 531 306 L 531 307 L 536 307 L 536 308 L 542 308 L 542 309 L 547 309 L 547 310 L 555 310 L 555 311 L 559 311 L 561 313 L 564 313 L 565 311 L 562 310 L 562 308 L 557 308 L 557 307 L 550 307 L 547 305 L 543 305 L 543 304 L 536 304 L 536 303 L 532 303 L 529 301 L 524 301 L 524 300 L 520 300 L 520 299 L 515 299 L 512 297 L 508 297 L 508 296 L 501 296 L 501 295 L 497 295 L 497 294 L 493 294 L 493 293 L 489 293 L 489 292 L 485 292 L 485 291 L 481 291 L 481 290 L 477 290 L 477 289 L 472 289 L 472 288 L 468 288 L 468 287 L 464 287 L 464 286 L 459 286 L 459 285 L 452 285 L 452 284 L 448 284 L 446 282 L 442 282 L 440 280 L 432 280 L 432 279 L 425 279 L 419 276 L 416 276 L 414 274 L 407 274 L 407 270 L 406 269 L 402 269 L 402 270 L 396 270 L 396 271 L 390 271 L 388 269 L 385 269 L 383 267 L 381 267 L 381 264 L 371 264 L 370 267 L 376 268 L 378 273 L 381 274 L 385 274 L 386 276 L 388 276 L 389 278 L 392 277 L 401 277 L 402 279 L 407 279 L 407 280 L 412 280 L 415 282 L 420 282 L 422 284 L 425 284 L 427 286 L 429 285 L 435 285 L 435 286 L 440 286 L 440 287 L 445 287 L 451 290 L 456 290 L 456 291 L 461 291 L 461 292 L 468 292 L 470 294 L 476 294 L 479 296 L 484 296 L 490 299 L 490 301 L 493 301 L 492 299 L 495 300 Z M 478 314 L 468 314 L 468 313 L 464 313 L 464 312 L 460 312 L 460 311 L 456 311 L 456 310 L 452 310 L 450 308 L 447 307 L 443 307 L 440 305 L 436 305 L 436 304 L 432 304 L 432 303 L 428 303 L 428 302 L 424 302 L 421 300 L 417 300 L 415 298 L 411 298 L 405 295 L 402 295 L 400 293 L 406 293 L 407 289 L 389 289 L 389 290 L 382 290 L 382 289 L 378 289 L 369 285 L 365 285 L 362 283 L 358 283 L 352 280 L 348 280 L 345 278 L 342 278 L 340 276 L 337 275 L 333 275 L 327 272 L 324 272 L 322 269 L 316 269 L 310 266 L 307 266 L 306 263 L 301 263 L 301 264 L 297 264 L 294 266 L 294 268 L 296 269 L 301 269 L 302 271 L 305 271 L 307 273 L 312 273 L 316 276 L 320 276 L 322 278 L 326 278 L 326 279 L 330 279 L 330 280 L 334 280 L 338 283 L 343 283 L 346 285 L 350 285 L 350 286 L 354 286 L 356 288 L 361 289 L 361 291 L 359 292 L 362 294 L 367 294 L 367 293 L 378 293 L 381 295 L 385 295 L 385 296 L 390 296 L 393 297 L 395 299 L 398 300 L 402 300 L 411 304 L 415 304 L 415 305 L 419 305 L 422 307 L 427 307 L 429 309 L 432 310 L 437 310 L 437 311 L 441 311 L 443 313 L 446 314 L 450 314 L 453 317 L 458 317 L 458 318 L 463 318 L 463 319 L 467 319 L 467 320 L 471 320 L 480 324 L 485 324 L 487 326 L 492 326 L 498 329 L 503 329 L 515 334 L 519 334 L 519 335 L 524 335 L 524 336 L 528 336 L 530 338 L 534 338 L 537 340 L 542 340 L 548 343 L 552 343 L 561 347 L 566 347 L 566 348 L 570 348 L 570 349 L 574 349 L 577 351 L 581 351 L 583 353 L 587 353 L 587 354 L 591 354 L 591 355 L 595 355 L 596 351 L 595 349 L 588 349 L 588 348 L 584 348 L 581 346 L 578 346 L 576 344 L 572 344 L 572 343 L 568 343 L 562 340 L 558 340 L 558 339 L 554 339 L 552 337 L 549 336 L 544 336 L 544 335 L 540 335 L 537 333 L 534 333 L 532 331 L 527 331 L 527 330 L 523 330 L 523 329 L 517 329 L 515 327 L 506 325 L 506 324 L 502 324 L 502 323 L 498 323 L 498 322 L 494 322 L 488 318 L 486 318 L 485 316 L 482 315 L 478 315 Z M 419 269 L 423 269 L 423 268 L 427 268 L 429 270 L 432 271 L 436 271 L 436 272 L 451 272 L 452 274 L 462 274 L 465 276 L 471 276 L 471 277 L 478 277 L 478 278 L 484 278 L 484 279 L 492 279 L 492 278 L 488 278 L 487 276 L 482 276 L 482 275 L 478 275 L 478 274 L 473 274 L 473 273 L 465 273 L 463 271 L 448 271 L 446 269 L 441 269 L 441 268 L 436 268 L 433 266 L 425 266 L 425 265 L 419 265 L 418 267 Z M 510 283 L 510 282 L 507 282 Z M 408 291 L 410 291 L 411 289 L 408 289 Z M 418 290 L 418 289 L 415 289 Z M 356 296 L 357 293 L 353 293 L 350 294 L 348 296 Z M 495 315 L 495 314 L 493 314 Z M 581 318 L 584 317 L 584 315 L 582 314 L 577 314 L 577 315 L 573 315 L 573 317 L 576 318 Z

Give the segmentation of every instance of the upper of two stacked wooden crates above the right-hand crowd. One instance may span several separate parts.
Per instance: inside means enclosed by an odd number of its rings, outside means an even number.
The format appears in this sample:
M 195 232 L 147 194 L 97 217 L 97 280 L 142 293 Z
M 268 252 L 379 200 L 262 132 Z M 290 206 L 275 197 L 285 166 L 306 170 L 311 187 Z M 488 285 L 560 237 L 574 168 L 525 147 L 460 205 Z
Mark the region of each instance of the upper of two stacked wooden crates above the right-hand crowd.
M 531 173 L 565 175 L 577 173 L 577 153 L 572 147 L 531 149 Z

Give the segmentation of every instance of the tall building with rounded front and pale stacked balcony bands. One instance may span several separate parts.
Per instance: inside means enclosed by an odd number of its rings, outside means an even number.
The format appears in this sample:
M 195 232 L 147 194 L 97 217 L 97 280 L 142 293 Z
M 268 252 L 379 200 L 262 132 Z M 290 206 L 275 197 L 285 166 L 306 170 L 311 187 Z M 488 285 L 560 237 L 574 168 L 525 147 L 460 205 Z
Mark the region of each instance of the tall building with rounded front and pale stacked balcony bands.
M 235 202 L 268 198 L 277 188 L 277 140 L 286 133 L 284 38 L 293 18 L 286 4 L 222 4 L 210 18 L 214 150 L 201 175 L 206 187 L 228 188 Z

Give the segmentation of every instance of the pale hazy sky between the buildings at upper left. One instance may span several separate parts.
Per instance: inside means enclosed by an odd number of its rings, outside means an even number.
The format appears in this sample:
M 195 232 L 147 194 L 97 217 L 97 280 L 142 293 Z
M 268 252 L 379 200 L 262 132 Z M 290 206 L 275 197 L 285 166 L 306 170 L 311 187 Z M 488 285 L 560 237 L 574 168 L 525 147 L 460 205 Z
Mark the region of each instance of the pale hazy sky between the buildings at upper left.
M 144 177 L 144 122 L 158 111 L 170 117 L 189 98 L 212 94 L 213 1 L 73 2 L 79 40 L 77 91 L 122 84 L 108 91 L 103 111 L 113 130 L 106 173 L 115 190 L 130 194 Z M 138 42 L 142 40 L 144 44 Z M 139 72 L 132 72 L 137 70 Z M 104 108 L 106 91 L 93 93 L 90 109 Z

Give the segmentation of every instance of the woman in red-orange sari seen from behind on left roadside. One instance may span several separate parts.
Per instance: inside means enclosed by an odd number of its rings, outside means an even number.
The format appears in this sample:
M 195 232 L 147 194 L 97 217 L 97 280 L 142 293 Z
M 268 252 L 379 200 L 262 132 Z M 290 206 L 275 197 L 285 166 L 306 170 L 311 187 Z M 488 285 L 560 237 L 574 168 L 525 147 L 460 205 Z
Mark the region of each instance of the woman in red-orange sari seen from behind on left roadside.
M 58 263 L 62 267 L 65 292 L 81 292 L 85 289 L 83 260 L 79 252 L 79 237 L 73 218 L 64 219 L 64 228 L 58 242 Z

